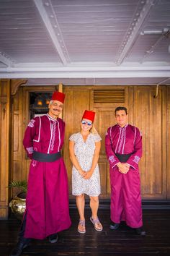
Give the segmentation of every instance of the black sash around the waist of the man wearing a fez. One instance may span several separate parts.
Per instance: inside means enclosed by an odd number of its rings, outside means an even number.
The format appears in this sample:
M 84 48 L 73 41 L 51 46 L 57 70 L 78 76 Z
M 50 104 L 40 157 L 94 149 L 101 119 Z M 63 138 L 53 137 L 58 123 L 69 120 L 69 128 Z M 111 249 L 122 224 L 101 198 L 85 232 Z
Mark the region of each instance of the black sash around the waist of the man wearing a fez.
M 39 162 L 54 162 L 59 158 L 61 158 L 61 152 L 46 154 L 46 153 L 40 153 L 40 152 L 34 151 L 32 158 Z

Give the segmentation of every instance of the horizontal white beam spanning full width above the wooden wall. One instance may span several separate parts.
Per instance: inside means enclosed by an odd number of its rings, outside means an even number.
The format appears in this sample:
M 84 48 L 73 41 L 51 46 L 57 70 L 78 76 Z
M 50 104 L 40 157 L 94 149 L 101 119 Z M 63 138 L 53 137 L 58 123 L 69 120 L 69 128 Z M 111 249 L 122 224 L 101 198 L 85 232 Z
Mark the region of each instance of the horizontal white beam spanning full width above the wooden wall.
M 86 78 L 86 79 L 91 79 L 91 82 L 94 81 L 92 79 L 95 78 L 123 78 L 123 77 L 129 77 L 129 78 L 135 78 L 135 77 L 170 77 L 170 68 L 167 67 L 164 70 L 161 70 L 160 67 L 157 67 L 154 70 L 150 69 L 144 69 L 138 70 L 138 69 L 124 69 L 124 70 L 117 70 L 117 69 L 112 69 L 111 70 L 102 70 L 102 71 L 97 71 L 97 70 L 55 70 L 55 71 L 49 71 L 45 72 L 44 70 L 42 71 L 35 71 L 35 70 L 29 70 L 29 71 L 24 71 L 24 70 L 19 70 L 16 71 L 15 69 L 12 68 L 6 68 L 2 69 L 0 68 L 0 78 Z M 87 80 L 88 81 L 88 80 Z M 95 82 L 94 82 L 95 83 Z

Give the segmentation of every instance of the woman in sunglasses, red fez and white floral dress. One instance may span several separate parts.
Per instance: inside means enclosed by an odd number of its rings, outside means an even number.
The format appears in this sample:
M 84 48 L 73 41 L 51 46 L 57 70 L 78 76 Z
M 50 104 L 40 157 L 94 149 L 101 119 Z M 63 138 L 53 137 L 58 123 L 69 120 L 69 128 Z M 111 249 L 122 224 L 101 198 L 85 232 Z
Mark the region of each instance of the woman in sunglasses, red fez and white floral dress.
M 89 195 L 91 218 L 94 229 L 102 231 L 102 224 L 97 217 L 99 208 L 100 176 L 99 176 L 99 150 L 102 138 L 94 128 L 94 111 L 84 111 L 81 119 L 81 132 L 71 135 L 69 150 L 72 169 L 72 194 L 76 196 L 76 205 L 79 210 L 78 231 L 86 233 L 84 218 L 84 195 Z

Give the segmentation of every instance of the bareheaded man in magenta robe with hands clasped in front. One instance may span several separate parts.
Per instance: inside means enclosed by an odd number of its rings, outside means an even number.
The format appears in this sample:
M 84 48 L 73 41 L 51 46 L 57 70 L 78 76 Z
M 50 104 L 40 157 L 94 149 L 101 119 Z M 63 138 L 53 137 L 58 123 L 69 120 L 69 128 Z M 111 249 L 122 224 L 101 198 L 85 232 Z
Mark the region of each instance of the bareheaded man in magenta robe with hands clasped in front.
M 138 162 L 142 156 L 142 135 L 128 124 L 125 107 L 115 109 L 117 124 L 107 129 L 106 154 L 111 184 L 110 229 L 118 229 L 125 221 L 137 234 L 144 236 Z

